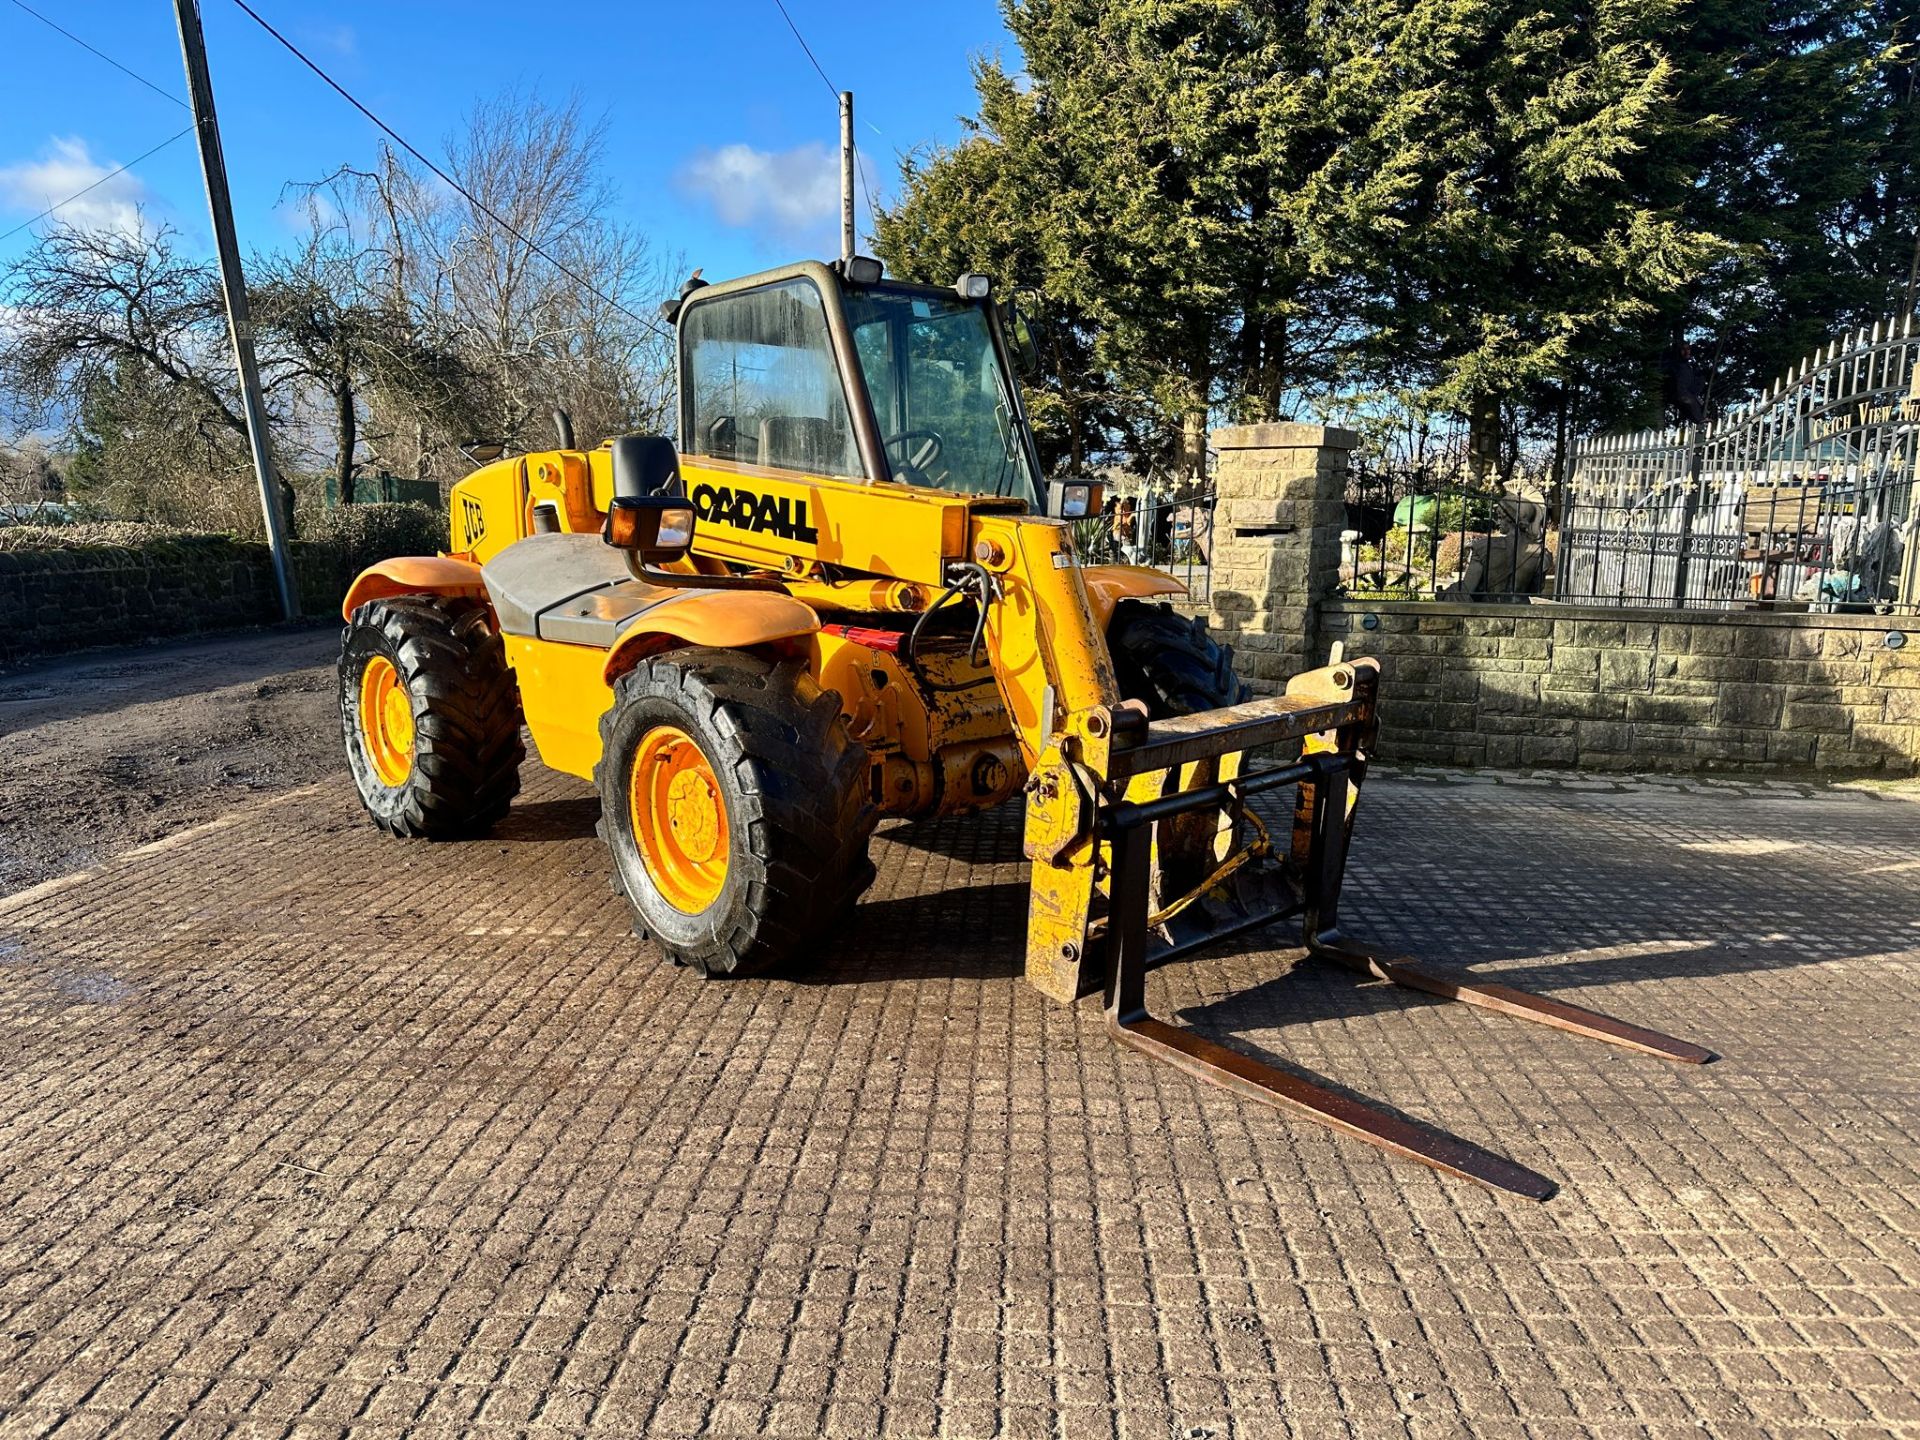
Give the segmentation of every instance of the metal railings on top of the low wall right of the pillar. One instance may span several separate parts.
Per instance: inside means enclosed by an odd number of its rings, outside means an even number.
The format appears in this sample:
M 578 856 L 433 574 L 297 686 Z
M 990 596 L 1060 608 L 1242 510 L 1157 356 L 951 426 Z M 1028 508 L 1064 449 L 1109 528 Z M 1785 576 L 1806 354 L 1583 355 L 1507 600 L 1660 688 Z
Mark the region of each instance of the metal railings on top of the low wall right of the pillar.
M 1563 486 L 1356 470 L 1342 589 L 1626 609 L 1920 612 L 1920 323 L 1809 357 L 1713 424 L 1599 436 Z

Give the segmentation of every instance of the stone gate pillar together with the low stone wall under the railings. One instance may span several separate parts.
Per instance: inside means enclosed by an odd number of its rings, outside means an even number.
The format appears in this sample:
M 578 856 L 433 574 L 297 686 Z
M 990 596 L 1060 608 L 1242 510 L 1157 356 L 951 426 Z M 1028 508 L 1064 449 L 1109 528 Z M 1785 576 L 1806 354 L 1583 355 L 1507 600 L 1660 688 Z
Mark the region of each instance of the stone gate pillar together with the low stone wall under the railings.
M 1377 657 L 1384 758 L 1920 770 L 1920 618 L 1342 603 L 1332 595 L 1354 436 L 1236 426 L 1213 444 L 1213 626 L 1258 693 L 1323 664 L 1334 641 Z

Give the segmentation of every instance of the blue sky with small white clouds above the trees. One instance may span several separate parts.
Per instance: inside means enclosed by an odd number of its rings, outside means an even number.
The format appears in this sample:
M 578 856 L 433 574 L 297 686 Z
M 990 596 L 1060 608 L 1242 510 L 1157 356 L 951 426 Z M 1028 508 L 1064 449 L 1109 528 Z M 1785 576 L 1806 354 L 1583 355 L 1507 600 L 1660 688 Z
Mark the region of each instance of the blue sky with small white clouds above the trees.
M 27 0 L 40 13 L 184 96 L 167 0 Z M 708 278 L 837 246 L 837 113 L 774 0 L 526 6 L 499 0 L 252 0 L 374 113 L 434 159 L 476 98 L 580 90 L 609 123 L 622 219 Z M 1018 63 L 993 0 L 847 6 L 787 0 L 835 84 L 854 90 L 858 144 L 876 198 L 895 156 L 960 134 L 972 56 Z M 215 100 L 244 250 L 292 234 L 286 180 L 365 165 L 380 134 L 232 0 L 202 0 Z M 0 230 L 140 156 L 186 111 L 0 0 Z M 192 136 L 94 190 L 69 211 L 125 223 L 132 207 L 211 253 Z M 862 204 L 860 221 L 866 228 Z M 31 234 L 0 242 L 0 261 Z

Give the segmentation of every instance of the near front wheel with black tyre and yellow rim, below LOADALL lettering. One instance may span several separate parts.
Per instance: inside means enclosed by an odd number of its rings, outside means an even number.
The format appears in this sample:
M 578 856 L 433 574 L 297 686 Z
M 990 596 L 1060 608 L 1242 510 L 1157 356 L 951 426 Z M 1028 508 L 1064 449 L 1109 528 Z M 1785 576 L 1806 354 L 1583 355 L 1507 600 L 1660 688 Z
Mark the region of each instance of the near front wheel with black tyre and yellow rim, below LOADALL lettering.
M 636 929 L 703 975 L 793 958 L 874 879 L 866 751 L 799 660 L 641 660 L 614 684 L 593 781 Z

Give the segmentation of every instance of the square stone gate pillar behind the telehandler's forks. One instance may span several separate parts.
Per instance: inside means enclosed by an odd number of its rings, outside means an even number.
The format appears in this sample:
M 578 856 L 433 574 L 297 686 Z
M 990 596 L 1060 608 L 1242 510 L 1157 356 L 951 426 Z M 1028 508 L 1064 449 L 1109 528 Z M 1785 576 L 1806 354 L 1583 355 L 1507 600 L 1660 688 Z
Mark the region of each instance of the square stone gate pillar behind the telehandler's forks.
M 1260 695 L 1321 664 L 1319 605 L 1340 578 L 1346 474 L 1359 436 L 1325 424 L 1236 424 L 1219 451 L 1213 628 Z

